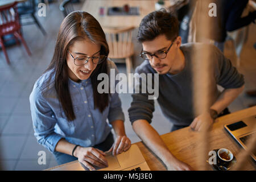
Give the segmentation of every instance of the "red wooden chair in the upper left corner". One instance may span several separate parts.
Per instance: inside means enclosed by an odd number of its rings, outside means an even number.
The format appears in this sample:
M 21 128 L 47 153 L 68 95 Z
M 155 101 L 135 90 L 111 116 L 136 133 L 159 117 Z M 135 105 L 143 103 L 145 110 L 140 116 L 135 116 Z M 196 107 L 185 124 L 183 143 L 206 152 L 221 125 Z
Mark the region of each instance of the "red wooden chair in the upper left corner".
M 13 34 L 14 38 L 16 40 L 16 43 L 18 44 L 18 39 L 23 43 L 24 47 L 27 50 L 28 55 L 31 55 L 30 50 L 27 47 L 27 44 L 25 40 L 22 37 L 22 34 L 20 32 L 20 23 L 19 23 L 19 15 L 16 8 L 16 2 L 0 8 L 0 46 L 3 49 L 3 52 L 5 53 L 6 61 L 8 64 L 10 64 L 9 57 L 7 55 L 5 44 L 3 41 L 3 36 Z

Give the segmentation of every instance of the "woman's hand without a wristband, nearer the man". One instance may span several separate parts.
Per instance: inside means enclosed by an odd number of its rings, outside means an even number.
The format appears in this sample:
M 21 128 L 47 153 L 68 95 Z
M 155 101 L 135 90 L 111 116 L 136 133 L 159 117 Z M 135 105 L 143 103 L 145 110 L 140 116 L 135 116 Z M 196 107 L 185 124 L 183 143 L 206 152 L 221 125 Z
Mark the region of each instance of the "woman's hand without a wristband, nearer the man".
M 127 150 L 129 150 L 130 147 L 131 140 L 128 137 L 126 137 L 125 135 L 118 136 L 115 139 L 115 143 L 108 152 L 112 152 L 113 155 L 118 155 L 121 154 L 122 152 L 126 152 Z

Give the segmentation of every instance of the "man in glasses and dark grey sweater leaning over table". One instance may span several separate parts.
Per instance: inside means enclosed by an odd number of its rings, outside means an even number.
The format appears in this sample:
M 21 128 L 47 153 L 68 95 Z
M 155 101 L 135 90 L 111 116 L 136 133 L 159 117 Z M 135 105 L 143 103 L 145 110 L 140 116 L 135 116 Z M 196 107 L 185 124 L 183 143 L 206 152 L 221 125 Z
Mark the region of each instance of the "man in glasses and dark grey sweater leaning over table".
M 135 72 L 159 73 L 158 102 L 164 116 L 174 124 L 172 131 L 186 126 L 200 131 L 203 125 L 201 115 L 193 114 L 192 48 L 193 51 L 204 51 L 205 47 L 211 49 L 211 60 L 197 60 L 214 63 L 210 77 L 213 85 L 210 90 L 212 106 L 209 111 L 202 113 L 207 116 L 210 124 L 223 110 L 228 113 L 226 107 L 243 90 L 243 76 L 213 45 L 190 43 L 181 46 L 178 32 L 177 19 L 166 10 L 154 11 L 145 16 L 137 36 L 142 43 L 141 57 L 145 61 Z M 225 88 L 222 93 L 218 92 L 217 84 Z M 191 170 L 191 166 L 171 154 L 157 131 L 150 125 L 154 100 L 148 100 L 147 94 L 142 93 L 134 93 L 132 97 L 129 117 L 138 137 L 166 164 L 167 169 Z

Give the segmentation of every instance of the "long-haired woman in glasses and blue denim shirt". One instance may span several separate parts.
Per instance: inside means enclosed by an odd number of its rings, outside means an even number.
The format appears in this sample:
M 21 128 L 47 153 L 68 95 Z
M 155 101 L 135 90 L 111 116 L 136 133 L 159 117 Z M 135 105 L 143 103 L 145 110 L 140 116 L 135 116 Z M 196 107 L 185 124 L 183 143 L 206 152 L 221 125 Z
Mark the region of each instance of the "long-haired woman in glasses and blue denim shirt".
M 108 54 L 92 15 L 75 11 L 63 20 L 52 61 L 30 94 L 35 137 L 59 164 L 78 159 L 92 170 L 107 167 L 104 151 L 117 155 L 131 146 L 118 94 L 97 92 L 97 76 L 117 71 Z

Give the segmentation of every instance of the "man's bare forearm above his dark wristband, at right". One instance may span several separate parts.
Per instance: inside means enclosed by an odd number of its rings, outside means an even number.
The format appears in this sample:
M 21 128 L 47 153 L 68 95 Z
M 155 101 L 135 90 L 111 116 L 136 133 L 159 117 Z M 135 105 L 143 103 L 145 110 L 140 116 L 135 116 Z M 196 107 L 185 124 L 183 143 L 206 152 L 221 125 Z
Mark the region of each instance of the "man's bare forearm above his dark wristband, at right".
M 210 109 L 214 109 L 220 114 L 222 110 L 228 107 L 242 93 L 244 87 L 243 85 L 236 89 L 225 89 Z

